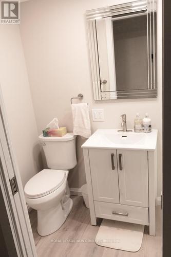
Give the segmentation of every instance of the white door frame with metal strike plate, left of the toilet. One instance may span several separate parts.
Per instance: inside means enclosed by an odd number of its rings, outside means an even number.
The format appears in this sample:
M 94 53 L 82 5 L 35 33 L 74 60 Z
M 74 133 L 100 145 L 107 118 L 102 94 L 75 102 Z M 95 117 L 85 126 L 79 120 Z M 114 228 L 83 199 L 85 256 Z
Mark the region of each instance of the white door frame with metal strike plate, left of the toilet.
M 18 256 L 36 257 L 22 180 L 11 143 L 5 104 L 0 85 L 0 186 Z M 13 195 L 10 179 L 15 177 L 17 192 Z

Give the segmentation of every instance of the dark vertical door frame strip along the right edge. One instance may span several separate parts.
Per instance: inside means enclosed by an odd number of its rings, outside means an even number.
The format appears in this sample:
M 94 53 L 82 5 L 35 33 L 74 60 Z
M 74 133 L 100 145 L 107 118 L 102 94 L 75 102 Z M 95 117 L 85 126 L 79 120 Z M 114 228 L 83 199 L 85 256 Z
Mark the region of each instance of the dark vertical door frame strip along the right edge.
M 162 158 L 162 253 L 163 257 L 170 256 L 171 229 L 171 162 L 170 162 L 170 131 L 171 131 L 171 2 L 163 1 L 163 158 Z

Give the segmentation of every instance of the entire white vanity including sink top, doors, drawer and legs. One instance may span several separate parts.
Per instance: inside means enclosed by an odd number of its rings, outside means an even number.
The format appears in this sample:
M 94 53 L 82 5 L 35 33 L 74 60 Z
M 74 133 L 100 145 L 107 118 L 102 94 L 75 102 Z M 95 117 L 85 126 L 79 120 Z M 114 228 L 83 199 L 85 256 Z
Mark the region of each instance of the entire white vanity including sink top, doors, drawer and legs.
M 97 217 L 149 225 L 155 235 L 157 130 L 97 130 L 83 145 L 91 224 Z

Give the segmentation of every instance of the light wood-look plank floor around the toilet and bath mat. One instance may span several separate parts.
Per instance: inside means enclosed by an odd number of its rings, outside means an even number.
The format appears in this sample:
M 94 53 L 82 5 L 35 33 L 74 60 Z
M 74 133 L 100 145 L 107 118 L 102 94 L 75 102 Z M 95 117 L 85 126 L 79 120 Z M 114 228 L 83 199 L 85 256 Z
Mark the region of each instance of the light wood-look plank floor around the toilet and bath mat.
M 148 235 L 145 227 L 143 243 L 138 252 L 126 252 L 94 243 L 102 219 L 97 226 L 91 226 L 89 209 L 83 204 L 81 196 L 72 196 L 73 209 L 66 222 L 56 232 L 40 236 L 36 231 L 36 211 L 30 212 L 34 241 L 38 257 L 161 257 L 161 207 L 156 211 L 156 236 Z M 77 241 L 77 242 L 75 242 Z

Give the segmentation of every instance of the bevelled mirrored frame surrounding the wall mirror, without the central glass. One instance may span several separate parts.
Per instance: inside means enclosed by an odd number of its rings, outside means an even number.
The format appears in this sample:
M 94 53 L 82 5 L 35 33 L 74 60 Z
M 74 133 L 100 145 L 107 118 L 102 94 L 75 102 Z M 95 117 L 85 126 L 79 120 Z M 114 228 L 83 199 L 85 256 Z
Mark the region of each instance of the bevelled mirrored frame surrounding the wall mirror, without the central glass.
M 101 91 L 96 20 L 126 13 L 147 12 L 148 89 Z M 139 0 L 86 11 L 94 100 L 157 97 L 157 0 Z M 153 56 L 153 58 L 152 58 Z

